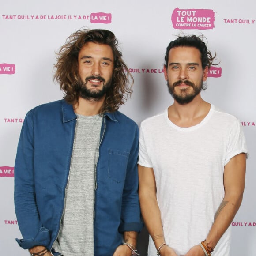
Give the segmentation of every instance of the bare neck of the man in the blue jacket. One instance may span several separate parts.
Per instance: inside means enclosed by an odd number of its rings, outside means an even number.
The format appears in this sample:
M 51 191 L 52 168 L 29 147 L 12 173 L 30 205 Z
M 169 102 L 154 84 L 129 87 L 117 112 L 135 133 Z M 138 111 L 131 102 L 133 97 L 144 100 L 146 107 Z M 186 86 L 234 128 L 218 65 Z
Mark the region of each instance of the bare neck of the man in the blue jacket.
M 73 108 L 75 113 L 83 116 L 95 116 L 99 114 L 99 111 L 104 103 L 105 97 L 101 99 L 84 99 L 79 97 L 78 103 Z

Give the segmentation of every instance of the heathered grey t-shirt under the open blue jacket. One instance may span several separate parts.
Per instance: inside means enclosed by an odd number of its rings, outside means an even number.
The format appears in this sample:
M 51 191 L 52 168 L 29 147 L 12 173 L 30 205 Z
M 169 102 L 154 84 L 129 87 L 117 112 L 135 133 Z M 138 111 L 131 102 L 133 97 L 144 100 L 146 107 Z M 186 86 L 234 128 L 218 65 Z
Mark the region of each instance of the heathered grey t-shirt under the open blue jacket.
M 102 117 L 77 114 L 60 232 L 53 244 L 64 256 L 94 255 L 95 165 Z

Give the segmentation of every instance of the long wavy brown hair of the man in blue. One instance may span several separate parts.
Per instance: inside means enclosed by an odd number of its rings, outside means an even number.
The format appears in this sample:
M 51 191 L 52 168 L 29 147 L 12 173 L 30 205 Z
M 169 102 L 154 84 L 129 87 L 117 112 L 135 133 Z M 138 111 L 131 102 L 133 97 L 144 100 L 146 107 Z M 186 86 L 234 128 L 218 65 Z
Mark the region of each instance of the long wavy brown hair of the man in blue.
M 54 65 L 54 80 L 60 84 L 64 99 L 75 105 L 79 101 L 78 85 L 81 79 L 78 73 L 78 54 L 83 45 L 88 42 L 109 45 L 114 56 L 112 85 L 106 93 L 100 113 L 114 112 L 132 94 L 133 77 L 122 59 L 118 49 L 118 41 L 109 30 L 78 30 L 69 36 L 65 44 L 56 53 L 57 63 Z

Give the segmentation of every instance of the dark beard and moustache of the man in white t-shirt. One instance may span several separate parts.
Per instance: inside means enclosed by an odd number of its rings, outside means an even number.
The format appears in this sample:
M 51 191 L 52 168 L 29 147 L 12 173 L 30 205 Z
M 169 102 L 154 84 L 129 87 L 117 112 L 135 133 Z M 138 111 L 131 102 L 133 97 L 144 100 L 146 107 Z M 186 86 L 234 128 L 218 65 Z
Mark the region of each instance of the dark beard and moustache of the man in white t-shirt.
M 188 88 L 181 89 L 181 94 L 177 94 L 174 90 L 174 88 L 181 83 L 184 83 L 188 86 L 191 86 L 193 88 L 192 93 L 187 93 L 186 90 Z M 179 80 L 175 83 L 173 83 L 172 87 L 169 84 L 169 81 L 167 81 L 167 86 L 169 89 L 169 93 L 173 96 L 173 98 L 180 104 L 180 105 L 185 105 L 188 104 L 189 102 L 192 102 L 192 100 L 200 93 L 200 91 L 203 89 L 203 81 L 201 82 L 200 87 L 196 87 L 194 83 L 190 82 L 189 80 Z

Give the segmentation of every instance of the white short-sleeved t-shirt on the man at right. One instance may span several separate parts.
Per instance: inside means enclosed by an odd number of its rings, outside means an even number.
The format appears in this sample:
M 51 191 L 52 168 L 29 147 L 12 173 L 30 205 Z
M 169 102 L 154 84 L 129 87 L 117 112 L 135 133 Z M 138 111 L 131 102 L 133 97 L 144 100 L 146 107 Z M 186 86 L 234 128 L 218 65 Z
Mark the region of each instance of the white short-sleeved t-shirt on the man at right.
M 239 120 L 214 105 L 189 128 L 173 124 L 167 109 L 141 123 L 139 165 L 154 169 L 166 244 L 177 255 L 207 237 L 224 197 L 224 166 L 241 152 L 248 151 Z M 212 255 L 229 253 L 230 228 Z M 156 255 L 151 238 L 148 255 Z

